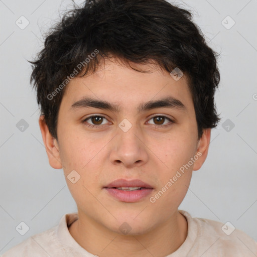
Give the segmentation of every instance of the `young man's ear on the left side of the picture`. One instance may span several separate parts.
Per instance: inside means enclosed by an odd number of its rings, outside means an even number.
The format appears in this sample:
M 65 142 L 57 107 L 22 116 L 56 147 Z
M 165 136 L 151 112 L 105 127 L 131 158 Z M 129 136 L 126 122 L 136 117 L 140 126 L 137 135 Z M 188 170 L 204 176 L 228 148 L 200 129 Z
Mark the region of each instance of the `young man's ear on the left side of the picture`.
M 42 138 L 45 144 L 49 164 L 54 169 L 61 169 L 62 164 L 61 164 L 61 158 L 59 154 L 58 142 L 49 132 L 44 115 L 41 115 L 39 118 L 39 126 L 41 130 Z

